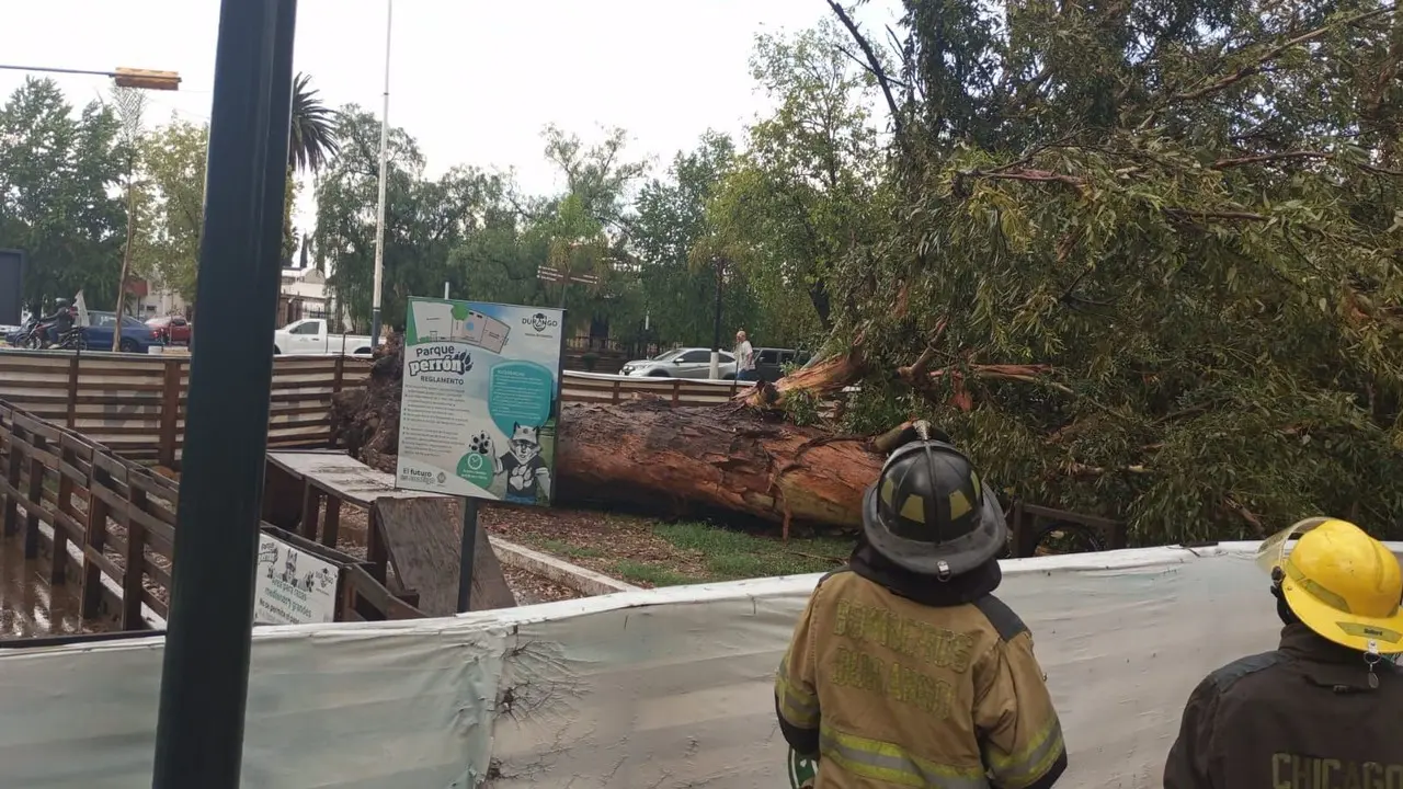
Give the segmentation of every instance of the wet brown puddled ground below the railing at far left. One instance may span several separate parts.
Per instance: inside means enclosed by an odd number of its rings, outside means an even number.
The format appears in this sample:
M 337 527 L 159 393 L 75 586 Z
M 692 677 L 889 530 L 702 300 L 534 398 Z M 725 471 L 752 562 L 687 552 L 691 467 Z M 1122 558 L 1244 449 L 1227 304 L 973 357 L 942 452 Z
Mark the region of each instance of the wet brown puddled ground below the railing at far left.
M 24 559 L 21 536 L 0 539 L 0 639 L 84 632 L 77 578 L 51 590 L 48 576 L 46 557 Z

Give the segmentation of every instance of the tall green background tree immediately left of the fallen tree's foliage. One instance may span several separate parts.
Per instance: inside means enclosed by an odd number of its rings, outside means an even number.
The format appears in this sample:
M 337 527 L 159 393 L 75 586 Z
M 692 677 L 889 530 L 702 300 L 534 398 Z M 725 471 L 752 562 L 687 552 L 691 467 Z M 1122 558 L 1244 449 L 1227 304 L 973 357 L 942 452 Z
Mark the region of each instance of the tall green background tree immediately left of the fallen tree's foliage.
M 717 243 L 790 341 L 833 327 L 833 265 L 884 216 L 868 111 L 875 83 L 843 52 L 840 35 L 822 24 L 756 38 L 751 70 L 776 110 L 751 126 L 711 202 Z

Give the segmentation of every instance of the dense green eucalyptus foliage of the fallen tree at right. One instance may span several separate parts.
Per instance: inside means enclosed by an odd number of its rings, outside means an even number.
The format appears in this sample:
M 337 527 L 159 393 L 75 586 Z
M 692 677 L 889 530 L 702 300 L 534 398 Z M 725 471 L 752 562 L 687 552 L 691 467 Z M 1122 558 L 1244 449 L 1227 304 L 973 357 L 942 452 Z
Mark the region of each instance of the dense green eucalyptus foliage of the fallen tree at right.
M 853 427 L 934 416 L 1142 542 L 1403 536 L 1392 6 L 908 0 L 880 37 L 833 10 L 899 195 L 829 282 Z

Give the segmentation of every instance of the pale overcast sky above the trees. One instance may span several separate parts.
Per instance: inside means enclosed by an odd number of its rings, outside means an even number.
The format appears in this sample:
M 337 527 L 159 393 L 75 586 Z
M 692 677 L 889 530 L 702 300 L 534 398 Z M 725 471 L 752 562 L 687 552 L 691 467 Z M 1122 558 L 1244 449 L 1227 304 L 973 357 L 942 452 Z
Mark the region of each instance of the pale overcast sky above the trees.
M 863 18 L 884 24 L 895 6 Z M 390 122 L 419 140 L 431 174 L 512 168 L 526 191 L 556 191 L 547 122 L 585 139 L 623 126 L 636 156 L 666 163 L 767 107 L 748 67 L 758 32 L 828 13 L 825 0 L 394 0 Z M 208 121 L 217 22 L 217 0 L 0 0 L 0 63 L 180 72 L 178 94 L 149 93 L 152 121 Z M 384 25 L 386 0 L 300 0 L 296 69 L 331 107 L 379 114 Z M 56 79 L 74 104 L 107 91 L 101 77 Z M 0 95 L 21 80 L 0 70 Z

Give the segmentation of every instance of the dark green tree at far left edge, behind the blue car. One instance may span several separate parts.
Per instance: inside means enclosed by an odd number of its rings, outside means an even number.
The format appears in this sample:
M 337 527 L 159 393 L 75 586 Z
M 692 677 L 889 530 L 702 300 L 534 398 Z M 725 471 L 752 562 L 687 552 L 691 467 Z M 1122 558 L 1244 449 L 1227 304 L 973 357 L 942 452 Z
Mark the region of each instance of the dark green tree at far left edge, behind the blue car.
M 83 291 L 111 306 L 126 222 L 115 115 L 94 101 L 74 117 L 53 80 L 27 79 L 0 108 L 0 247 L 28 251 L 25 305 Z

